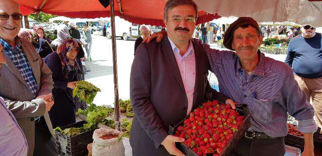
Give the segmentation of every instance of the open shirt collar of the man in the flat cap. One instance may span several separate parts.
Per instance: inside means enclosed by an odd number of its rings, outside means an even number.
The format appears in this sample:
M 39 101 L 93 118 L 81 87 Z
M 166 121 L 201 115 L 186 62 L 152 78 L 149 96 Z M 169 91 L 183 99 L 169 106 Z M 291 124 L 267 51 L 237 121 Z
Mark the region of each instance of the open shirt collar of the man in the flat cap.
M 258 76 L 266 76 L 266 68 L 265 68 L 265 54 L 261 53 L 260 50 L 258 50 L 258 54 L 260 56 L 260 62 L 258 63 L 255 71 L 253 72 L 254 75 Z M 240 65 L 239 59 L 237 59 L 237 70 L 238 72 L 244 71 L 244 69 Z

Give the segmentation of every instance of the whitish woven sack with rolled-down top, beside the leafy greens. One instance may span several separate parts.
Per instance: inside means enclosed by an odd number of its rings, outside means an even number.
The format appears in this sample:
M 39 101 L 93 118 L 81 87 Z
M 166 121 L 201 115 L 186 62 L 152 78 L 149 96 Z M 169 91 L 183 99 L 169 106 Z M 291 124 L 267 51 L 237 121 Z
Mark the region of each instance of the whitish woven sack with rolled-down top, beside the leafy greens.
M 120 134 L 121 132 L 115 129 L 106 129 L 100 128 L 96 129 L 93 133 L 93 148 L 92 155 L 105 155 L 105 156 L 123 156 L 124 155 L 124 147 L 123 143 L 118 140 L 118 138 L 111 139 L 102 139 L 100 138 L 106 134 Z

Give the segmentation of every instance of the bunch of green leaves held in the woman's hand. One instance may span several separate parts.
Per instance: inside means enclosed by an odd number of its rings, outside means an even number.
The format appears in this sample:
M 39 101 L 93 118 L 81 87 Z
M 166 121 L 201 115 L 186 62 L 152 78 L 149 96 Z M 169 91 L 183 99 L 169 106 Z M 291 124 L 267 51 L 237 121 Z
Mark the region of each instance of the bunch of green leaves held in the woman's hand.
M 76 96 L 80 100 L 83 100 L 88 104 L 92 104 L 97 92 L 99 91 L 101 91 L 101 89 L 90 82 L 77 81 L 75 88 L 73 89 L 72 96 Z

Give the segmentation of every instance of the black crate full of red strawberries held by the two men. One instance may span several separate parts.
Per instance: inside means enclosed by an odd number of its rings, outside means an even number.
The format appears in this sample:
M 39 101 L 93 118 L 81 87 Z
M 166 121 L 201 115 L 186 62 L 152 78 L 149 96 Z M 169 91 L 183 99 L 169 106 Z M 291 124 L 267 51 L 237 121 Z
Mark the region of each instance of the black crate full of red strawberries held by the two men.
M 229 155 L 250 124 L 246 104 L 232 109 L 213 100 L 204 102 L 180 123 L 171 124 L 169 133 L 185 138 L 177 147 L 186 155 Z

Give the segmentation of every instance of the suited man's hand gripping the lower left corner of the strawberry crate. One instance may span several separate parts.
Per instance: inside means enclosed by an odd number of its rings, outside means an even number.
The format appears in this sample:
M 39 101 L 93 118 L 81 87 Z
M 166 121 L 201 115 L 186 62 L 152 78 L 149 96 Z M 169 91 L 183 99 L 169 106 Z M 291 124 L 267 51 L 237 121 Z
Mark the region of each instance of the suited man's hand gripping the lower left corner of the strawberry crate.
M 163 141 L 162 145 L 165 146 L 167 151 L 172 154 L 172 155 L 177 155 L 177 156 L 185 156 L 177 147 L 176 147 L 176 142 L 183 142 L 185 141 L 184 138 L 173 136 L 173 135 L 168 135 Z

